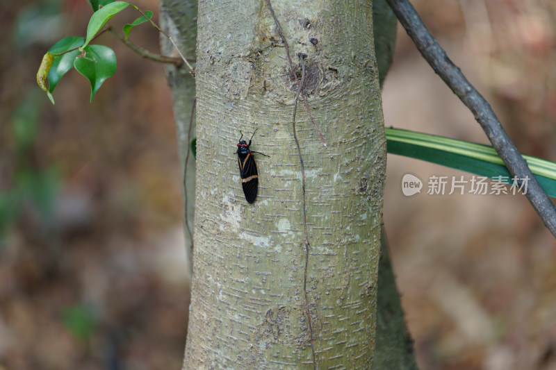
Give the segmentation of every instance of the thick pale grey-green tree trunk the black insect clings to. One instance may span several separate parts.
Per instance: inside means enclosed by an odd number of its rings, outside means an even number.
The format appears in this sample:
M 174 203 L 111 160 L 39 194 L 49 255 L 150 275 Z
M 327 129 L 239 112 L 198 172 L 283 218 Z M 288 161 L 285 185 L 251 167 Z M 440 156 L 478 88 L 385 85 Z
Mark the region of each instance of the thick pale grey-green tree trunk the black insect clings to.
M 298 70 L 297 53 L 308 56 L 304 92 L 327 141 L 322 146 L 300 103 L 316 362 L 370 369 L 386 160 L 371 8 L 355 0 L 273 6 Z M 162 8 L 179 40 L 195 40 L 194 8 L 170 0 Z M 292 126 L 297 85 L 284 44 L 264 1 L 201 1 L 198 22 L 195 270 L 184 369 L 312 369 Z M 171 73 L 185 153 L 193 99 L 180 92 L 187 77 Z M 234 151 L 238 131 L 255 128 L 252 149 L 271 158 L 256 156 L 259 199 L 249 205 Z

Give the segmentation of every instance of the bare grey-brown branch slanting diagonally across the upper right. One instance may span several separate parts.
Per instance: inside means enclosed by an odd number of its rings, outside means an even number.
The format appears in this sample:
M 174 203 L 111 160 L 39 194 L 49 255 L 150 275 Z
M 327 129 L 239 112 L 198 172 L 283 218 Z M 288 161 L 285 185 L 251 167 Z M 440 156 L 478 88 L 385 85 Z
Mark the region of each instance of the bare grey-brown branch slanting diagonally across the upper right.
M 421 55 L 434 69 L 434 72 L 443 79 L 452 92 L 473 112 L 475 119 L 481 125 L 486 136 L 489 137 L 492 146 L 496 149 L 496 152 L 500 155 L 500 158 L 502 158 L 502 161 L 504 161 L 512 175 L 517 178 L 516 182 L 518 185 L 528 181 L 525 196 L 527 196 L 546 227 L 556 237 L 556 208 L 550 199 L 548 199 L 548 195 L 544 192 L 537 178 L 532 174 L 527 162 L 525 162 L 506 131 L 504 131 L 490 104 L 467 81 L 459 67 L 448 58 L 444 49 L 436 42 L 408 0 L 386 1 L 400 20 L 409 37 L 416 44 Z

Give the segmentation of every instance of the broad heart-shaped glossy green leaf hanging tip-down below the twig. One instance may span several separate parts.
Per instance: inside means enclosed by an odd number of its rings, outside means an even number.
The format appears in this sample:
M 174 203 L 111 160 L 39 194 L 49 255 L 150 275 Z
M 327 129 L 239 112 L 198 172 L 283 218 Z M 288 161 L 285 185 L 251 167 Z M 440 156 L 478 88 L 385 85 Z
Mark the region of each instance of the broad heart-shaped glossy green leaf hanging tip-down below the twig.
M 91 101 L 106 78 L 116 72 L 116 54 L 104 45 L 90 45 L 83 49 L 85 56 L 74 60 L 74 67 L 91 83 Z

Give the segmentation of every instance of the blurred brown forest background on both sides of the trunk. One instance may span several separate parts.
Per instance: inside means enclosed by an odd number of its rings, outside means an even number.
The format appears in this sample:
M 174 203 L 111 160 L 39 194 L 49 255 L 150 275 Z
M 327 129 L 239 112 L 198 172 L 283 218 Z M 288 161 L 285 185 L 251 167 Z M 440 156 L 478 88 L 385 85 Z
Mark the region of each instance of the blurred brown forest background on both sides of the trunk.
M 158 1 L 134 3 L 158 19 Z M 556 3 L 413 3 L 518 149 L 556 160 Z M 0 2 L 0 370 L 181 368 L 188 267 L 163 65 L 106 33 L 118 67 L 95 101 L 75 71 L 56 106 L 35 83 L 91 12 Z M 146 24 L 131 41 L 158 51 Z M 486 143 L 401 28 L 383 98 L 386 126 Z M 411 198 L 407 173 L 425 182 Z M 389 155 L 384 221 L 420 368 L 556 369 L 555 240 L 525 197 L 427 195 L 432 174 L 471 179 Z

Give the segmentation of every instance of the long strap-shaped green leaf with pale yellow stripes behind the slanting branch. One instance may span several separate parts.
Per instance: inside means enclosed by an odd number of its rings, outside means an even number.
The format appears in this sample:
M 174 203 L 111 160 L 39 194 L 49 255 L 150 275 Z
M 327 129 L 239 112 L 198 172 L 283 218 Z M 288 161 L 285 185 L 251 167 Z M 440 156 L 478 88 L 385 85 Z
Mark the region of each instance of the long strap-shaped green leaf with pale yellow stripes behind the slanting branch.
M 385 131 L 388 153 L 425 160 L 489 178 L 507 176 L 506 183 L 512 185 L 512 174 L 492 146 L 398 128 L 386 128 Z M 546 194 L 556 198 L 556 163 L 530 155 L 523 155 L 523 158 L 528 162 L 529 168 Z

